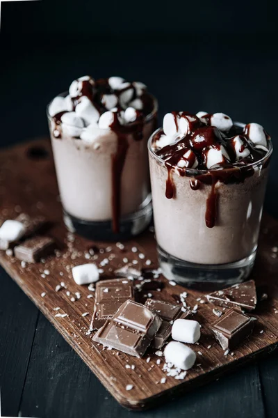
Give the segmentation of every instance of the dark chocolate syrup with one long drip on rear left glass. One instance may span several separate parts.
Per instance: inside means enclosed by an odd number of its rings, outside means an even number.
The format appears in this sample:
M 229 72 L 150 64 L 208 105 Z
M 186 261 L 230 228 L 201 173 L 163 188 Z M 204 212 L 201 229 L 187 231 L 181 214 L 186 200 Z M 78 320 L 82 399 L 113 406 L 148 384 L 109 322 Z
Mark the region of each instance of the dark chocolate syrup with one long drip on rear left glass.
M 117 152 L 112 155 L 112 227 L 113 232 L 118 233 L 120 231 L 120 212 L 121 212 L 121 179 L 122 171 L 124 169 L 124 162 L 126 160 L 126 153 L 129 149 L 129 141 L 127 139 L 128 134 L 132 134 L 134 141 L 140 141 L 143 137 L 143 127 L 145 124 L 146 117 L 149 114 L 152 114 L 154 111 L 154 98 L 152 95 L 143 91 L 140 95 L 140 100 L 142 100 L 142 110 L 136 110 L 136 121 L 129 123 L 127 125 L 121 125 L 119 122 L 120 112 L 124 109 L 120 106 L 120 96 L 125 91 L 132 89 L 131 100 L 137 98 L 136 94 L 136 85 L 129 83 L 125 88 L 121 90 L 113 90 L 108 83 L 108 78 L 94 80 L 90 77 L 88 80 L 83 80 L 81 83 L 81 88 L 76 97 L 72 98 L 73 111 L 76 109 L 76 105 L 81 101 L 82 97 L 87 97 L 95 108 L 99 111 L 99 114 L 103 114 L 107 111 L 104 106 L 103 96 L 104 94 L 113 94 L 117 97 L 117 109 L 118 111 L 114 113 L 113 123 L 111 123 L 111 130 L 117 135 Z M 66 112 L 60 112 L 56 114 L 53 118 L 55 123 L 56 134 L 54 135 L 57 139 L 62 137 L 61 130 L 61 117 Z M 153 118 L 154 129 L 156 129 L 156 115 L 154 114 Z M 77 138 L 78 139 L 78 138 Z

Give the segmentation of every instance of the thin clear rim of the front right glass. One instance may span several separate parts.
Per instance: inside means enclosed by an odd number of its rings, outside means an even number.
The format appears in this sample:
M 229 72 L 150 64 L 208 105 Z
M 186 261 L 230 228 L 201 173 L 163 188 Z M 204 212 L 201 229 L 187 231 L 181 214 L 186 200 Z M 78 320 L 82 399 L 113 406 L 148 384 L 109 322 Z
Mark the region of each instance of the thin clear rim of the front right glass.
M 234 122 L 235 126 L 238 127 L 245 127 L 246 124 L 242 123 L 242 122 Z M 161 157 L 159 157 L 154 150 L 152 149 L 152 139 L 154 138 L 154 135 L 156 135 L 158 132 L 161 132 L 163 130 L 163 127 L 158 127 L 157 130 L 155 130 L 152 135 L 149 137 L 148 142 L 147 142 L 147 148 L 149 150 L 149 153 L 151 155 L 154 156 L 154 158 L 161 163 L 165 163 L 165 160 L 163 160 Z M 261 158 L 261 160 L 256 161 L 256 162 L 250 162 L 250 164 L 246 164 L 243 167 L 229 167 L 228 169 L 224 169 L 225 171 L 230 171 L 230 170 L 235 170 L 235 169 L 242 169 L 242 168 L 252 168 L 252 167 L 257 167 L 260 164 L 263 164 L 263 162 L 265 162 L 266 160 L 268 160 L 268 158 L 270 157 L 270 155 L 272 154 L 272 150 L 273 150 L 273 144 L 271 139 L 268 139 L 268 144 L 269 144 L 269 148 L 268 148 L 268 152 Z M 209 174 L 209 173 L 217 173 L 219 171 L 224 171 L 224 170 L 217 170 L 217 169 L 189 169 L 189 168 L 183 168 L 184 171 L 186 171 L 186 173 L 189 173 L 193 176 L 196 176 L 198 174 Z

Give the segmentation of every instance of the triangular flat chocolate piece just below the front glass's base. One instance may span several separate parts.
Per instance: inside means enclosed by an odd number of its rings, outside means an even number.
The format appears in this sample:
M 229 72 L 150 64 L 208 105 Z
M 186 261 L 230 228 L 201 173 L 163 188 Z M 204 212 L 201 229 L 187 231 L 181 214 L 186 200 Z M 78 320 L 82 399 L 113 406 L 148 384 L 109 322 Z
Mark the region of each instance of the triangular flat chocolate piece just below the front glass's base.
M 254 280 L 245 281 L 245 283 L 235 284 L 230 288 L 206 295 L 206 298 L 208 302 L 220 307 L 240 307 L 246 311 L 252 311 L 257 302 L 256 285 Z

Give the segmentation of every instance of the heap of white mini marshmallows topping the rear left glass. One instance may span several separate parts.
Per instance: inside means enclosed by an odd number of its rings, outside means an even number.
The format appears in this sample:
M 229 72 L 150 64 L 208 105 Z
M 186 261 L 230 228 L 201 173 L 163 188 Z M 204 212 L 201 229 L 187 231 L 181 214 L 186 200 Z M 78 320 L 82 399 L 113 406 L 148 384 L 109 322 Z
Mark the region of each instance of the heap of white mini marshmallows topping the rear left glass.
M 129 83 L 122 77 L 110 77 L 108 85 L 111 94 L 101 96 L 101 105 L 107 111 L 100 114 L 93 102 L 86 95 L 82 95 L 83 82 L 90 83 L 92 89 L 95 86 L 95 80 L 85 75 L 72 82 L 66 97 L 57 96 L 49 105 L 51 118 L 65 112 L 60 118 L 65 135 L 92 142 L 99 134 L 103 134 L 102 130 L 110 130 L 115 117 L 121 125 L 136 121 L 138 111 L 143 109 L 140 97 L 147 90 L 145 84 Z M 133 99 L 134 91 L 136 99 Z M 75 107 L 74 100 L 77 100 Z M 58 135 L 59 132 L 54 127 L 54 136 Z

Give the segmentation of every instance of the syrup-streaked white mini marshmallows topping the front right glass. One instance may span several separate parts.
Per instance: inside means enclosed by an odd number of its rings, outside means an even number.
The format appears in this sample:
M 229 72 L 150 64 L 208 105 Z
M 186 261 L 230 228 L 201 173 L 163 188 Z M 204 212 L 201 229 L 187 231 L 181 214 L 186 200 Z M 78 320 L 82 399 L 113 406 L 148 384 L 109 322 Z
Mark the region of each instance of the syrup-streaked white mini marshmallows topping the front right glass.
M 190 123 L 196 123 L 201 121 L 208 126 L 217 127 L 220 131 L 223 139 L 227 138 L 227 132 L 233 126 L 231 118 L 223 113 L 215 113 L 210 115 L 209 118 L 207 112 L 199 111 L 196 115 L 187 115 L 184 112 L 179 112 L 176 116 L 172 113 L 168 113 L 163 118 L 163 132 L 164 134 L 154 144 L 155 148 L 163 148 L 168 145 L 175 144 L 179 139 L 185 137 L 190 132 Z M 263 127 L 259 123 L 249 123 L 245 126 L 243 132 L 250 140 L 252 146 L 257 149 L 268 151 L 267 148 L 267 136 Z M 193 134 L 193 141 L 196 146 L 202 144 L 202 137 L 198 134 Z M 236 135 L 231 139 L 231 146 L 234 148 L 236 154 L 236 161 L 250 156 L 252 148 L 245 137 Z M 193 147 L 194 149 L 194 147 Z M 222 144 L 218 144 L 217 147 L 211 146 L 206 150 L 205 164 L 207 169 L 211 169 L 215 164 L 221 164 L 223 162 L 230 162 L 227 150 Z M 195 156 L 194 150 L 188 149 L 186 153 L 181 157 L 181 160 L 177 163 L 177 167 L 196 169 L 198 166 L 198 160 Z

